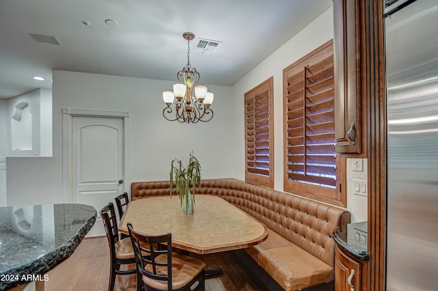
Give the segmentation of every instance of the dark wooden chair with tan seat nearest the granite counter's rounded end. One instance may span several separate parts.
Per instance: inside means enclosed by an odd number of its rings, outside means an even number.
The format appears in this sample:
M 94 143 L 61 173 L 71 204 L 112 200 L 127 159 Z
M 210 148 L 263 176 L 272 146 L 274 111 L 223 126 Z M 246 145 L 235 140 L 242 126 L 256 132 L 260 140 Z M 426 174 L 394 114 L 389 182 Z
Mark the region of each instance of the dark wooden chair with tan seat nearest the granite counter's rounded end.
M 110 283 L 108 290 L 114 290 L 114 282 L 116 275 L 131 275 L 136 274 L 136 269 L 120 271 L 120 266 L 123 264 L 135 264 L 136 258 L 133 253 L 132 243 L 130 238 L 119 239 L 116 212 L 114 204 L 110 202 L 101 209 L 101 217 L 105 232 L 107 233 L 108 244 L 110 245 Z

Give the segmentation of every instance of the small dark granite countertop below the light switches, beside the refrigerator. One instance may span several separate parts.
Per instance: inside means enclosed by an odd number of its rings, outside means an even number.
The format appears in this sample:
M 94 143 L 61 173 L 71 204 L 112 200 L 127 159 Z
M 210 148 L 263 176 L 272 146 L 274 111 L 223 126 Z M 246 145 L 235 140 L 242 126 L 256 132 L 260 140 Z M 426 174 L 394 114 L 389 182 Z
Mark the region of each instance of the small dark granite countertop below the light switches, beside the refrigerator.
M 358 258 L 359 260 L 370 260 L 370 253 L 368 253 L 366 247 L 366 233 L 366 221 L 348 223 L 347 225 L 344 225 L 344 227 L 336 227 L 335 232 L 333 232 L 333 239 L 339 247 L 355 256 L 355 258 Z

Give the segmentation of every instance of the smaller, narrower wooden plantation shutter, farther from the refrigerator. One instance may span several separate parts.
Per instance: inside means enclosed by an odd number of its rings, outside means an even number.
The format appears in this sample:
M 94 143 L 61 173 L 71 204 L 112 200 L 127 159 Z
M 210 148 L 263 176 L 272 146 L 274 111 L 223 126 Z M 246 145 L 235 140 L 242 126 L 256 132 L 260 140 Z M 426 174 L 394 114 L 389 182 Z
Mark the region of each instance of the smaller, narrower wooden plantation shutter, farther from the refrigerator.
M 247 182 L 274 186 L 272 77 L 245 94 Z

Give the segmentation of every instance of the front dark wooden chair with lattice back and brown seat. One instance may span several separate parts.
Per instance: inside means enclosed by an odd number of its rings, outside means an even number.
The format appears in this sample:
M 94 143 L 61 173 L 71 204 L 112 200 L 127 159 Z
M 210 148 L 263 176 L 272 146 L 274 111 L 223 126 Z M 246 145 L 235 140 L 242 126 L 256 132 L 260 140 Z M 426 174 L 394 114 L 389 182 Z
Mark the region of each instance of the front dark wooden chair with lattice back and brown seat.
M 205 290 L 205 263 L 172 252 L 172 234 L 148 236 L 133 230 L 131 223 L 127 226 L 136 256 L 137 290 Z

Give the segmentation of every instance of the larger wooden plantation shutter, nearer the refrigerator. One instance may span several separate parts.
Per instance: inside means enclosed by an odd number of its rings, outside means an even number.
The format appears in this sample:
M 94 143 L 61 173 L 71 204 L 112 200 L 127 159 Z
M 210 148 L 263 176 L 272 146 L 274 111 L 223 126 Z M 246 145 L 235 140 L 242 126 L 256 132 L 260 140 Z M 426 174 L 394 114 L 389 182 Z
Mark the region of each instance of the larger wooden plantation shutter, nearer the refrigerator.
M 335 199 L 333 42 L 283 70 L 285 191 Z

